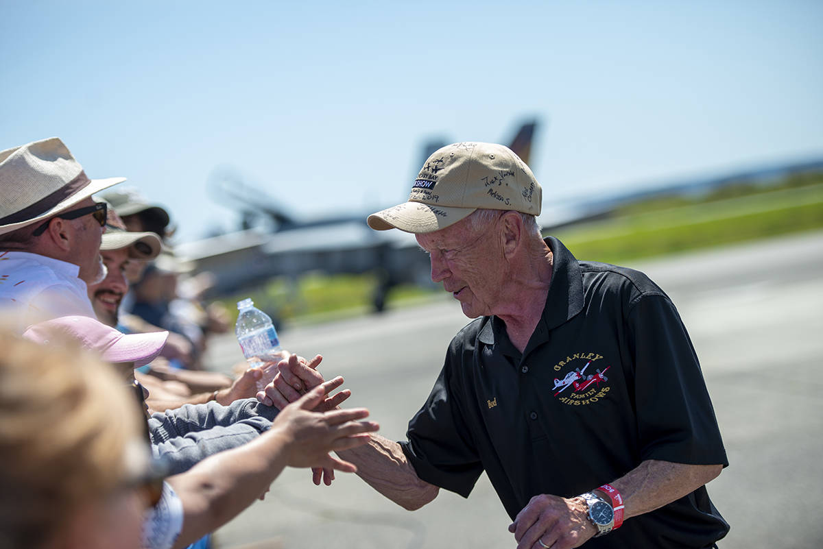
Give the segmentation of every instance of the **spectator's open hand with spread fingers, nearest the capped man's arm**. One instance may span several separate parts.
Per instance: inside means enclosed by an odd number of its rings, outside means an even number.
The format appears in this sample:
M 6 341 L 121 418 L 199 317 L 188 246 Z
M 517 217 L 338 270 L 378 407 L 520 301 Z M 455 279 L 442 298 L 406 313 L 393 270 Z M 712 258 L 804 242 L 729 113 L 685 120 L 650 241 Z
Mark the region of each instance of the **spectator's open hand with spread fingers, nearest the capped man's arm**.
M 313 390 L 309 390 L 297 402 L 289 404 L 277 414 L 268 431 L 272 436 L 282 436 L 286 442 L 287 461 L 291 467 L 333 468 L 355 473 L 354 464 L 332 457 L 329 452 L 349 450 L 370 440 L 369 433 L 377 431 L 375 422 L 357 421 L 369 416 L 365 408 L 335 409 L 328 412 L 312 412 L 323 402 L 326 394 L 341 385 L 337 376 Z

